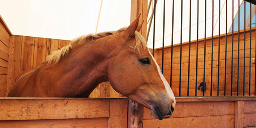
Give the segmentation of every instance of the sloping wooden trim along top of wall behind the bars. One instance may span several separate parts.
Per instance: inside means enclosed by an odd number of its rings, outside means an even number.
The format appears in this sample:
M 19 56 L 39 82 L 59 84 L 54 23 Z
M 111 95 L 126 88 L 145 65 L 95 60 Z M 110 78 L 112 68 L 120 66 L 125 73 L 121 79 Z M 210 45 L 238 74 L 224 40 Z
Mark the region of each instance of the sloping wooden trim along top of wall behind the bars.
M 253 28 L 252 28 L 252 31 L 255 30 L 255 29 L 256 29 L 256 27 L 253 27 Z M 250 28 L 245 29 L 245 32 L 250 32 Z M 238 34 L 238 31 L 235 31 L 235 32 L 233 33 L 233 35 L 236 35 L 236 34 Z M 244 29 L 243 29 L 243 30 L 240 30 L 240 34 L 244 34 Z M 232 32 L 228 32 L 228 33 L 227 33 L 227 36 L 229 36 L 229 35 L 232 35 Z M 225 36 L 226 36 L 226 33 L 221 34 L 221 35 L 220 35 L 220 38 L 225 37 Z M 213 39 L 215 39 L 215 38 L 218 38 L 218 35 L 213 36 Z M 212 39 L 212 37 L 207 37 L 207 38 L 206 38 L 206 41 L 207 41 L 207 40 L 211 40 L 211 39 Z M 198 42 L 200 42 L 200 41 L 204 41 L 204 38 L 198 39 Z M 196 40 L 190 41 L 190 43 L 196 43 Z M 182 45 L 185 45 L 185 44 L 189 44 L 189 41 L 182 43 Z M 180 46 L 180 44 L 174 44 L 173 47 L 175 47 L 175 46 Z M 172 47 L 172 45 L 165 46 L 164 48 L 169 48 L 169 47 Z M 156 48 L 155 50 L 160 50 L 160 49 L 162 49 L 162 47 Z

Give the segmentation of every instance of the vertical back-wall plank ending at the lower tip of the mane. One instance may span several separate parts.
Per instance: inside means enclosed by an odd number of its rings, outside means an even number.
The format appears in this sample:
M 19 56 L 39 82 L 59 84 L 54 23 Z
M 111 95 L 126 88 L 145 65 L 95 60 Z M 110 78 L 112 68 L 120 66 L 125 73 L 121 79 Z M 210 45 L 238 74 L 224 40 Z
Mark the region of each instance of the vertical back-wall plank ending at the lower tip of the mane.
M 35 38 L 34 62 L 33 67 L 38 67 L 45 61 L 46 57 L 46 38 Z

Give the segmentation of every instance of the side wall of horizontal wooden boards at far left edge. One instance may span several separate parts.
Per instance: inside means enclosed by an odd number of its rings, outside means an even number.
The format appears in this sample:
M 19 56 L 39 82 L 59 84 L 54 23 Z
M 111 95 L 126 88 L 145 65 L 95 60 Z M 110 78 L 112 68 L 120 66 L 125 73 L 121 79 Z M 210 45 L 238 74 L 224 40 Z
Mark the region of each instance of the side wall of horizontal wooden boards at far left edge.
M 0 15 L 0 97 L 6 96 L 11 31 Z

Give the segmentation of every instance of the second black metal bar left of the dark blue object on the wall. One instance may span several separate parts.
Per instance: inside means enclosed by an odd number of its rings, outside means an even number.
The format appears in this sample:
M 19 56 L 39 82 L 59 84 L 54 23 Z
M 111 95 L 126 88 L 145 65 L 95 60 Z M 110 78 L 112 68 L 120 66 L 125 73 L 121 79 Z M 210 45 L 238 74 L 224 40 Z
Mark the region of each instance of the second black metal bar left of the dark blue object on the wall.
M 189 69 L 188 69 L 188 92 L 187 96 L 189 96 L 189 76 L 190 76 L 190 41 L 191 39 L 191 0 L 189 0 Z

